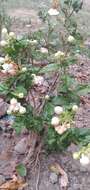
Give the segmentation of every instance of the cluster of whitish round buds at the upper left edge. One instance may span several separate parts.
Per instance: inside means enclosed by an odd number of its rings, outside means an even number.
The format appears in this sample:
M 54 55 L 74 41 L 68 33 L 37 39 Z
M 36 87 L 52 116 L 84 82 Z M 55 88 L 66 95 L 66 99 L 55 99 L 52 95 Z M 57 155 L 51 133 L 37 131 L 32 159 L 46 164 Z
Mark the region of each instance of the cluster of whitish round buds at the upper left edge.
M 1 41 L 0 41 L 0 46 L 5 47 L 8 45 L 9 40 L 11 39 L 16 39 L 16 35 L 14 32 L 9 32 L 6 28 L 3 28 L 1 31 Z

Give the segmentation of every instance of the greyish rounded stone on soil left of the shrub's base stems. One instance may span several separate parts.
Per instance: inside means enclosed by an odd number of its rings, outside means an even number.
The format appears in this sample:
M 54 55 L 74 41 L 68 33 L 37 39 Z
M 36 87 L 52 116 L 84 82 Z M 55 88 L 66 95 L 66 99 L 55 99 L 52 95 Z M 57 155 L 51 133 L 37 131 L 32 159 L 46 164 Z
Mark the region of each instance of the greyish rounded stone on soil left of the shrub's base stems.
M 25 154 L 27 149 L 27 138 L 21 139 L 15 146 L 14 150 L 19 154 Z

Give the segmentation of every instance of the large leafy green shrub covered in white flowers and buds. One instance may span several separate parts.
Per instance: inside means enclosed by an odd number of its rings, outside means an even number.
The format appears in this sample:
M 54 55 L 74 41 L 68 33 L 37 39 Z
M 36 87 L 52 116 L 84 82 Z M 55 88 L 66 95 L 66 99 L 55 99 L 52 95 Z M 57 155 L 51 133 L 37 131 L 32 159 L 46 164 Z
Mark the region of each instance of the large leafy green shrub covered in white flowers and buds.
M 49 150 L 63 150 L 71 142 L 88 144 L 87 130 L 75 128 L 74 118 L 80 96 L 90 88 L 69 70 L 83 48 L 74 19 L 81 8 L 80 0 L 64 0 L 60 6 L 54 1 L 39 13 L 43 30 L 22 38 L 2 30 L 0 72 L 6 79 L 0 93 L 10 103 L 7 114 L 15 116 L 18 133 L 26 127 L 43 135 Z

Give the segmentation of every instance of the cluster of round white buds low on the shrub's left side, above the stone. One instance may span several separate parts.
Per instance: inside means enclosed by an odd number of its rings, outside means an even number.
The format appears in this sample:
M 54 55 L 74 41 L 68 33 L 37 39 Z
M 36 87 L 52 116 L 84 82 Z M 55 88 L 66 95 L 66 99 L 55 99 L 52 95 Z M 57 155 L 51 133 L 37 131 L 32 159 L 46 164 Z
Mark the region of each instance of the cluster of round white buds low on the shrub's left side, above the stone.
M 17 101 L 16 98 L 12 98 L 10 100 L 10 105 L 9 108 L 7 110 L 7 114 L 15 114 L 15 113 L 19 113 L 19 114 L 25 114 L 26 113 L 26 108 L 23 107 L 21 105 L 20 102 Z

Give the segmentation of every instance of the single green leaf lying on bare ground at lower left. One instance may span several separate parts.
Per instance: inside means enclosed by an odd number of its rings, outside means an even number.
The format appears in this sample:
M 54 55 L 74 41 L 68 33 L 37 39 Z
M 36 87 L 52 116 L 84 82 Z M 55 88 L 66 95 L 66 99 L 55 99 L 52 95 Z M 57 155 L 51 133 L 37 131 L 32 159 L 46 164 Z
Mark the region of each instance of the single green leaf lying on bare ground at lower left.
M 21 177 L 25 177 L 27 175 L 26 167 L 21 163 L 16 166 L 16 171 Z

